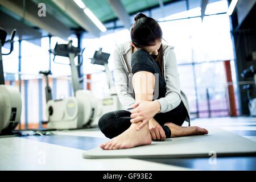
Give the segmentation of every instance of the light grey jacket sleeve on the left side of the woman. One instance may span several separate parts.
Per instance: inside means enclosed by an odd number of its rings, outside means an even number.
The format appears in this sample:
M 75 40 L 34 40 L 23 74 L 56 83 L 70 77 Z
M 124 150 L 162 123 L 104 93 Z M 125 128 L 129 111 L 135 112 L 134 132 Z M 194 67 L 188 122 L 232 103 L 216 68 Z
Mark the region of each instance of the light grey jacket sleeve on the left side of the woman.
M 135 103 L 135 99 L 132 87 L 129 88 L 129 75 L 125 71 L 125 63 L 122 60 L 123 55 L 117 47 L 113 53 L 115 88 L 119 101 L 126 109 L 129 109 Z

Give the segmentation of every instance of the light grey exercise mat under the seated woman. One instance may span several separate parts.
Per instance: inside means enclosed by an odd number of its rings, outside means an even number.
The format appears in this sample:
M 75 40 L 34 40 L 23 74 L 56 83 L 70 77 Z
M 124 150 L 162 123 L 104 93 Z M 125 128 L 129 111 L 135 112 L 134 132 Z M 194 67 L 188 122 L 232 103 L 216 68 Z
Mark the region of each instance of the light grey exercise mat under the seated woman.
M 122 150 L 102 150 L 100 147 L 83 153 L 84 158 L 191 158 L 210 156 L 255 155 L 256 143 L 237 134 L 219 128 L 209 128 L 208 135 L 168 138 L 164 142 L 152 142 Z

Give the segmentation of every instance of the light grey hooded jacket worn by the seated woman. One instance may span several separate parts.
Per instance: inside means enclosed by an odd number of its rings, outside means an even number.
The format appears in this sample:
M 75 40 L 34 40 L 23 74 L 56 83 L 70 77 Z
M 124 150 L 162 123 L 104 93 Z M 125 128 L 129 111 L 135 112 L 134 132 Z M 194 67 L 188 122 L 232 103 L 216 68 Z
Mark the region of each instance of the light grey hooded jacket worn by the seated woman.
M 177 71 L 177 61 L 174 47 L 163 44 L 164 50 L 164 80 L 166 81 L 166 96 L 159 98 L 160 113 L 166 113 L 177 107 L 181 100 L 188 111 L 185 121 L 190 123 L 188 99 L 180 90 L 180 79 Z M 114 61 L 115 88 L 121 104 L 128 110 L 135 103 L 135 95 L 131 87 L 131 55 L 129 42 L 120 44 L 112 55 Z

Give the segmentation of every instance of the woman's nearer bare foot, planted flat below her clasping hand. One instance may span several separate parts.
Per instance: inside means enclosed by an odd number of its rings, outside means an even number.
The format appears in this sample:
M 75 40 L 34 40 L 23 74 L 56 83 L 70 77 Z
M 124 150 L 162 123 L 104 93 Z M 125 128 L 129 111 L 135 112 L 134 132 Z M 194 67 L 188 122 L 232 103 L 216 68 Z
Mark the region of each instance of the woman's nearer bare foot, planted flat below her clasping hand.
M 141 124 L 141 122 L 131 124 L 129 129 L 113 138 L 109 142 L 101 144 L 100 147 L 104 150 L 115 150 L 150 144 L 151 135 L 150 131 L 148 130 L 148 125 L 137 131 L 136 129 L 139 124 Z

